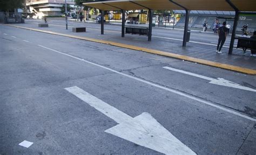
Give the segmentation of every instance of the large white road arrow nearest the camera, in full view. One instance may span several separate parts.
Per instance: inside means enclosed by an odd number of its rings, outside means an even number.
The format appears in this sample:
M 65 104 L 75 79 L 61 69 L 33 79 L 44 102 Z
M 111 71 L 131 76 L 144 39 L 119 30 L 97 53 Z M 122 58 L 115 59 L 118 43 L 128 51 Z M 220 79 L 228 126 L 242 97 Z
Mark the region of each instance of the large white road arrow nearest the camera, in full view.
M 118 123 L 107 133 L 165 154 L 196 154 L 147 112 L 132 118 L 77 86 L 65 89 Z

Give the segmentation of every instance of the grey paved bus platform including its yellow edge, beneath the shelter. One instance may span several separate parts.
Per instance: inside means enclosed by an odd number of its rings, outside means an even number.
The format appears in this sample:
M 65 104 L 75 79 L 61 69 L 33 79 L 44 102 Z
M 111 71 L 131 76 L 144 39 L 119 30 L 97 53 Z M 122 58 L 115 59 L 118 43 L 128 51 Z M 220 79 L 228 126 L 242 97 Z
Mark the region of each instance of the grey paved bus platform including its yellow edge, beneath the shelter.
M 71 28 L 72 26 L 69 26 L 69 30 L 65 30 L 65 26 L 54 24 L 49 24 L 49 27 L 38 27 L 37 24 L 31 23 L 12 24 L 10 26 L 65 37 L 95 41 L 97 43 L 130 48 L 132 50 L 164 55 L 167 57 L 196 62 L 198 64 L 256 75 L 256 58 L 241 55 L 241 50 L 234 49 L 234 54 L 228 55 L 228 49 L 225 48 L 223 49 L 223 54 L 217 54 L 215 53 L 216 47 L 210 45 L 188 42 L 186 47 L 182 47 L 182 42 L 178 40 L 152 37 L 152 41 L 149 42 L 147 41 L 146 36 L 126 34 L 125 38 L 122 38 L 120 32 L 113 33 L 111 31 L 105 31 L 105 34 L 101 35 L 100 29 L 89 28 L 86 29 L 85 33 L 73 33 Z M 83 26 L 86 27 L 86 23 L 83 23 Z M 99 27 L 100 24 L 95 24 L 95 28 Z M 250 52 L 248 51 L 247 53 Z

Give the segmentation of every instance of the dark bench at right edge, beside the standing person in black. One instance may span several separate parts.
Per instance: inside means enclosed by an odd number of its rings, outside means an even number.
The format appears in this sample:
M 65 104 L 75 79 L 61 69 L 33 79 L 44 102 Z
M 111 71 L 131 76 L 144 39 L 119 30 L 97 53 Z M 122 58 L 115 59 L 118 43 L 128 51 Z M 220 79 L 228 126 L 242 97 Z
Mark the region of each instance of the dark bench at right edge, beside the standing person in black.
M 238 39 L 237 48 L 242 48 L 244 52 L 247 49 L 256 50 L 256 39 L 245 38 L 245 37 L 235 37 L 235 39 Z

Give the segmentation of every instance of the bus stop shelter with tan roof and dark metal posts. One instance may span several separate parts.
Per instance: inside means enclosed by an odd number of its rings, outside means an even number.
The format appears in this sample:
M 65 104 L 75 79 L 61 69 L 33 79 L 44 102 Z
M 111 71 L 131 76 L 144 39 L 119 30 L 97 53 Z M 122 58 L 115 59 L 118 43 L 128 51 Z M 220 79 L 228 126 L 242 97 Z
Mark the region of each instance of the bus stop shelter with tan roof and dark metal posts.
M 104 17 L 104 11 L 122 11 L 122 37 L 124 37 L 125 35 L 125 11 L 146 9 L 149 10 L 148 41 L 151 41 L 152 36 L 153 10 L 185 10 L 186 18 L 184 26 L 183 47 L 186 47 L 186 40 L 188 37 L 188 19 L 191 10 L 235 11 L 234 25 L 228 54 L 232 54 L 233 51 L 235 30 L 237 29 L 239 13 L 247 11 L 256 11 L 255 0 L 112 0 L 100 2 L 87 2 L 83 3 L 83 5 L 101 10 L 102 17 Z M 101 20 L 101 34 L 104 34 L 104 18 L 101 18 Z

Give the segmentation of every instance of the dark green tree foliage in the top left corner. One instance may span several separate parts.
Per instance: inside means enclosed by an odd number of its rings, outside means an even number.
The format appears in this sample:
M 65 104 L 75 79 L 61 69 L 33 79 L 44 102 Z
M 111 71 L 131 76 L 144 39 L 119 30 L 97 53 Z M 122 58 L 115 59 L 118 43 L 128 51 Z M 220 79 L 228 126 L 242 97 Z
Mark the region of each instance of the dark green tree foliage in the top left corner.
M 1 0 L 0 10 L 7 11 L 18 8 L 24 8 L 23 2 L 23 0 Z

